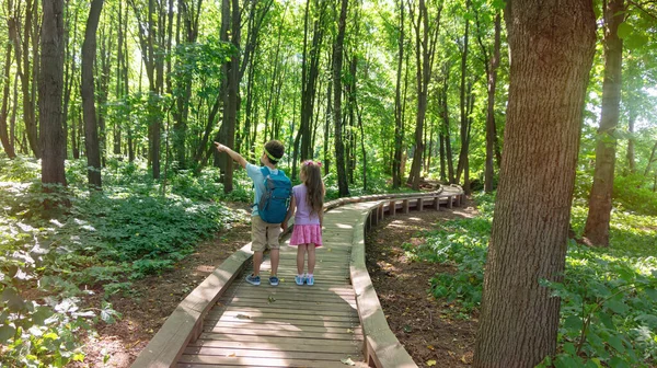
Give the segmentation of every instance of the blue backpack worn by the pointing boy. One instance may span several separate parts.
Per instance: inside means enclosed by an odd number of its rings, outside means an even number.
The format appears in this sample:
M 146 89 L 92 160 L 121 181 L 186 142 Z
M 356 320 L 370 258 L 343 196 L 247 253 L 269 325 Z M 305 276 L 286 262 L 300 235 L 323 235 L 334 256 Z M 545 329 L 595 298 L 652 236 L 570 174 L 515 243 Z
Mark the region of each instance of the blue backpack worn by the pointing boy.
M 273 175 L 267 166 L 261 168 L 265 176 L 265 191 L 257 203 L 261 219 L 268 223 L 280 223 L 285 220 L 292 196 L 292 182 L 283 170 Z

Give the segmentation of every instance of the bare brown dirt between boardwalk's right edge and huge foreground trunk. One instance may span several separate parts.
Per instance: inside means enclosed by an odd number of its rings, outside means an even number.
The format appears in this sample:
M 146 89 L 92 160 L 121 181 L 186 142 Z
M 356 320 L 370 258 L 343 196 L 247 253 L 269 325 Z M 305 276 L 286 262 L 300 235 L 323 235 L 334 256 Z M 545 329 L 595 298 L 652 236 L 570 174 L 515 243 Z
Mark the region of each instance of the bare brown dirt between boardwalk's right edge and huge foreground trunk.
M 411 212 L 383 220 L 367 235 L 367 268 L 388 324 L 419 367 L 466 367 L 472 363 L 476 315 L 456 320 L 450 304 L 429 295 L 429 279 L 450 267 L 412 262 L 404 243 L 424 242 L 423 232 L 456 217 L 473 217 L 471 202 L 453 210 Z M 434 361 L 431 361 L 434 360 Z

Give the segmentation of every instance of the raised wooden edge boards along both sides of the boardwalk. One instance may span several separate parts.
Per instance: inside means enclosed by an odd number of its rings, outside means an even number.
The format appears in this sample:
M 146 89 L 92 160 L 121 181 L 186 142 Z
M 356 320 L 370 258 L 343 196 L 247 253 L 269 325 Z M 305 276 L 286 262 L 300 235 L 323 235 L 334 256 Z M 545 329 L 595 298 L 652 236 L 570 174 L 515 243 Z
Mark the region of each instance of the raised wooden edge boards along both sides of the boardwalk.
M 390 331 L 377 292 L 365 267 L 365 226 L 367 225 L 369 228 L 372 222 L 374 222 L 373 225 L 378 223 L 384 216 L 384 207 L 388 207 L 389 215 L 395 214 L 397 207 L 403 209 L 406 206 L 419 209 L 417 208 L 418 205 L 423 208 L 426 205 L 434 207 L 434 204 L 436 206 L 438 204 L 439 199 L 436 199 L 438 197 L 446 199 L 448 207 L 451 207 L 452 202 L 456 202 L 458 206 L 463 196 L 463 191 L 460 187 L 458 188 L 460 194 L 449 196 L 441 195 L 443 188 L 440 187 L 438 191 L 422 194 L 368 195 L 339 198 L 324 204 L 324 210 L 327 211 L 348 204 L 381 200 L 380 204 L 374 204 L 365 211 L 359 223 L 354 227 L 355 239 L 350 264 L 350 277 L 356 291 L 358 313 L 366 335 L 364 352 L 370 365 L 376 367 L 416 367 L 413 359 L 410 358 L 404 347 Z M 436 202 L 424 200 L 425 198 Z M 408 202 L 414 202 L 415 206 Z M 391 203 L 394 204 L 392 210 Z M 292 227 L 293 225 L 281 237 L 291 232 Z M 223 261 L 176 307 L 130 367 L 175 367 L 187 344 L 194 343 L 203 333 L 203 322 L 217 300 L 223 296 L 231 286 L 232 280 L 242 272 L 252 257 L 251 243 L 247 243 Z M 361 307 L 364 311 L 361 311 Z M 384 329 L 381 326 L 384 326 Z M 404 363 L 406 361 L 404 354 L 408 356 L 410 364 Z

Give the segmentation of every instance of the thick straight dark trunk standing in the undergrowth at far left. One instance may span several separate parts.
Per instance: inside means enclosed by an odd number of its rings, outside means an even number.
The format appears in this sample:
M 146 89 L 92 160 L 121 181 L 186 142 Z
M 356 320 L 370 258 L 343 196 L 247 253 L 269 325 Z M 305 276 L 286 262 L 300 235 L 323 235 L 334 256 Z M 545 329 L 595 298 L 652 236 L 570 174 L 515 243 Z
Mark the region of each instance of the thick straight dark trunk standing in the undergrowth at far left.
M 42 183 L 66 185 L 61 126 L 64 84 L 64 0 L 43 0 L 38 111 L 41 116 Z M 48 188 L 46 187 L 46 191 Z

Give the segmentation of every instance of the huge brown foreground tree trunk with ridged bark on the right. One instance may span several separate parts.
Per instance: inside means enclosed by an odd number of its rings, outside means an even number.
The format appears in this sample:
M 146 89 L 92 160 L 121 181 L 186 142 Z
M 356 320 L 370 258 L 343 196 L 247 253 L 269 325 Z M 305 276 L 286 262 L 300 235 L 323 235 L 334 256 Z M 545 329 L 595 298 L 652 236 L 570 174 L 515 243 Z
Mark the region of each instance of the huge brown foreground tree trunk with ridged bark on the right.
M 505 152 L 473 367 L 534 367 L 555 353 L 584 110 L 596 43 L 587 0 L 507 2 Z M 537 47 L 540 45 L 540 47 Z

